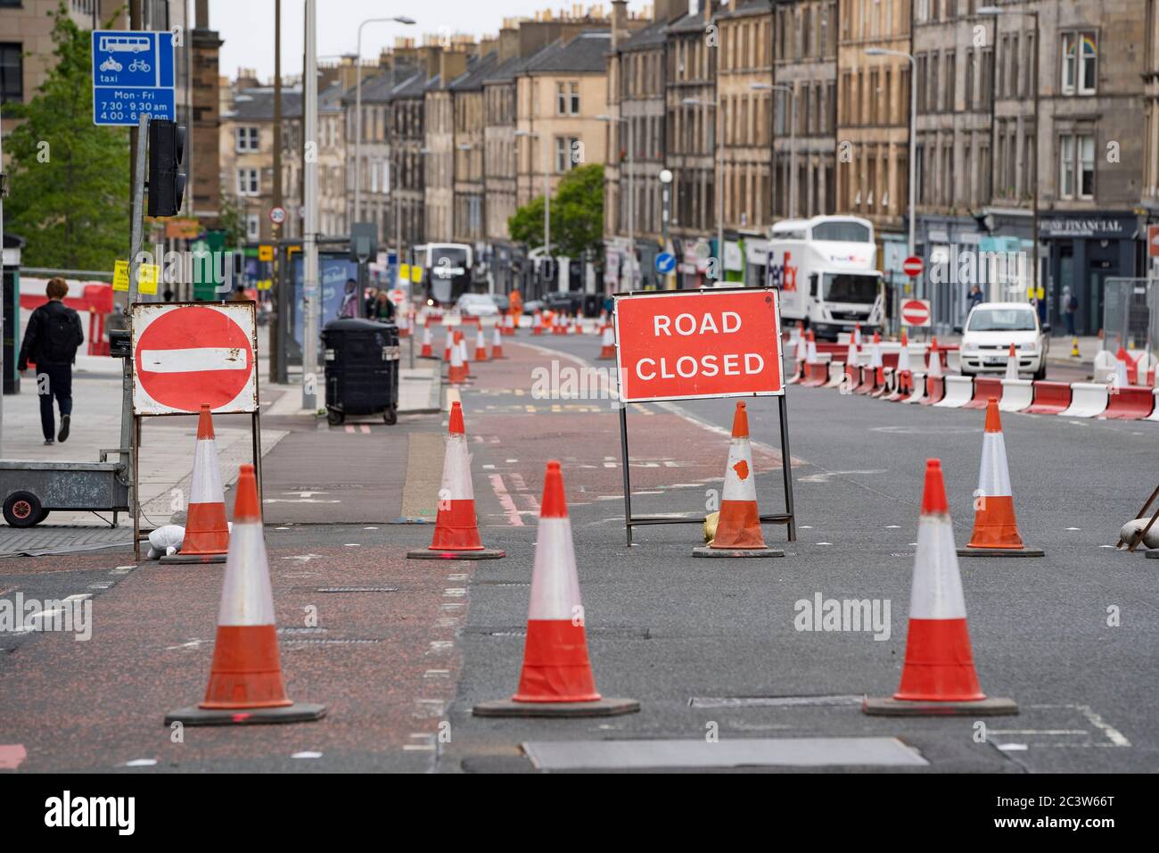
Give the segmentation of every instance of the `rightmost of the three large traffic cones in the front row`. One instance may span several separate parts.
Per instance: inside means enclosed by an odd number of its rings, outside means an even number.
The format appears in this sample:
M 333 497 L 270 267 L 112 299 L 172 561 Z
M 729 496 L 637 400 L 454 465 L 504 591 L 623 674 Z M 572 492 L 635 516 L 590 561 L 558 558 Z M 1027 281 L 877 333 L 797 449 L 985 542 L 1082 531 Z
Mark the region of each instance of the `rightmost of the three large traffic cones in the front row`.
M 938 460 L 926 462 L 902 682 L 891 699 L 867 697 L 861 710 L 884 716 L 1018 714 L 1013 700 L 987 699 L 978 685 Z

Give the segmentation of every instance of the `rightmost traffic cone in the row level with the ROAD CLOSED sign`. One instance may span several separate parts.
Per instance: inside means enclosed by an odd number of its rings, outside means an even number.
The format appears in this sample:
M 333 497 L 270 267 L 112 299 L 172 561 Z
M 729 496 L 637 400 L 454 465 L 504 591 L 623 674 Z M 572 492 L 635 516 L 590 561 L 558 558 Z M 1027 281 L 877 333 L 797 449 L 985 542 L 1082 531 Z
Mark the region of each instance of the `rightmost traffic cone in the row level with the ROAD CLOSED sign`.
M 978 491 L 974 493 L 974 535 L 960 556 L 1041 557 L 1042 551 L 1027 548 L 1018 535 L 1014 519 L 1014 494 L 1006 465 L 1006 439 L 998 413 L 998 398 L 986 403 L 986 431 L 982 438 L 982 471 Z

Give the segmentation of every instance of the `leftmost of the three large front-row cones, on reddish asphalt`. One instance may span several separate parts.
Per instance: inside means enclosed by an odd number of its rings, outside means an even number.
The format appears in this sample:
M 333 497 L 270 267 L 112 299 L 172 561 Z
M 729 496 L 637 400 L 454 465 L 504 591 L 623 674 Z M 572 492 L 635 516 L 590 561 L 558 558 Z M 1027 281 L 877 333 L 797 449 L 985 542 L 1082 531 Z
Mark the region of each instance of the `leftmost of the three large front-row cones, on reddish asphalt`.
M 318 720 L 325 714 L 325 706 L 296 703 L 286 695 L 257 478 L 253 465 L 242 465 L 205 699 L 196 707 L 170 711 L 165 722 L 167 725 L 293 723 Z

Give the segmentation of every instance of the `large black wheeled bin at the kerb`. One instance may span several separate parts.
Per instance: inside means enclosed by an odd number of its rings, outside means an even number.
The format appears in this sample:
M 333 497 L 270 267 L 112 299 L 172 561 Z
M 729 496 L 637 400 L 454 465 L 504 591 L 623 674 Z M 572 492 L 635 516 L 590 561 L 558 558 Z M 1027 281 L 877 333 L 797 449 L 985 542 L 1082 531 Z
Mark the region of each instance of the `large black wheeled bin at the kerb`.
M 322 330 L 326 348 L 326 419 L 379 414 L 399 420 L 399 328 L 358 318 L 331 320 Z

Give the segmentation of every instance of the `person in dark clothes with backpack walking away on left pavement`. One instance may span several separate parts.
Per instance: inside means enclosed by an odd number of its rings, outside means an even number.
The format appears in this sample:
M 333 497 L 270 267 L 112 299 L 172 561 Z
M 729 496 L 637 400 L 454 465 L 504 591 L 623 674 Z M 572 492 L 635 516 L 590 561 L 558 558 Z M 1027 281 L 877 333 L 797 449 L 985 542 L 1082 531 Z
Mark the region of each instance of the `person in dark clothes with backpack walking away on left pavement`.
M 68 440 L 68 424 L 72 419 L 72 366 L 76 360 L 76 347 L 85 342 L 85 330 L 80 325 L 80 315 L 64 303 L 64 298 L 68 295 L 68 284 L 64 279 L 49 279 L 45 295 L 49 301 L 32 311 L 28 320 L 16 367 L 24 371 L 28 369 L 28 362 L 36 364 L 36 391 L 41 397 L 41 429 L 44 432 L 44 443 L 51 444 L 57 428 L 52 412 L 53 397 L 60 406 L 60 433 L 56 440 Z

